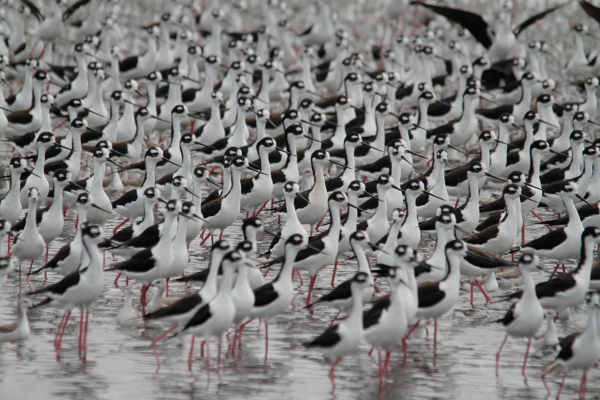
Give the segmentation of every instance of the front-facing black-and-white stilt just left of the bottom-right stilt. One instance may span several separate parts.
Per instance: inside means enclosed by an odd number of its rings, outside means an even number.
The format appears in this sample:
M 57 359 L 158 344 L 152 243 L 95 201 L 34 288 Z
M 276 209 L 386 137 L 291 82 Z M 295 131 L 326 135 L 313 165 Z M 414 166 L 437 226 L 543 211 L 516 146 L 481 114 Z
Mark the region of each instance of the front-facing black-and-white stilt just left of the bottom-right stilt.
M 533 253 L 525 252 L 521 255 L 518 267 L 521 276 L 523 276 L 523 296 L 521 296 L 518 303 L 515 303 L 508 309 L 504 318 L 499 320 L 506 328 L 506 336 L 500 345 L 500 350 L 496 354 L 496 375 L 498 375 L 500 353 L 502 353 L 502 348 L 506 344 L 508 336 L 528 339 L 525 360 L 521 369 L 521 374 L 525 375 L 532 338 L 544 323 L 544 308 L 542 308 L 535 294 L 532 277 L 532 273 L 540 268 L 539 258 Z

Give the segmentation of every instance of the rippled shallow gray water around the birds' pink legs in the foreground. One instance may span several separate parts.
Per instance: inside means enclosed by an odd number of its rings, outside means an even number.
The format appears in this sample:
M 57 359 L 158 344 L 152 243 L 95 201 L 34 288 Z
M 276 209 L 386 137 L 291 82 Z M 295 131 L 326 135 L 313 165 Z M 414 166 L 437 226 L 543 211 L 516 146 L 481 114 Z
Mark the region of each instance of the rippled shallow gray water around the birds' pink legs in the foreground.
M 542 213 L 543 214 L 543 213 Z M 268 225 L 276 221 L 270 215 L 263 218 Z M 532 220 L 528 222 L 533 222 Z M 73 228 L 73 211 L 69 210 L 65 234 L 52 245 L 51 254 L 65 240 L 70 240 Z M 227 237 L 239 240 L 239 229 L 226 231 Z M 107 226 L 107 232 L 113 225 Z M 528 229 L 531 235 L 542 233 L 539 225 Z M 262 246 L 270 237 L 259 236 Z M 191 246 L 191 263 L 188 272 L 206 266 L 208 249 Z M 427 241 L 424 241 L 425 245 Z M 107 264 L 111 258 L 107 255 Z M 39 263 L 40 261 L 37 261 Z M 547 267 L 551 261 L 545 262 Z M 338 282 L 349 278 L 355 264 L 341 264 Z M 268 278 L 274 277 L 270 272 Z M 314 296 L 329 290 L 331 267 L 317 279 Z M 547 275 L 540 274 L 539 280 Z M 500 377 L 496 378 L 494 361 L 497 348 L 503 339 L 501 318 L 508 303 L 484 306 L 484 299 L 476 296 L 476 308 L 469 304 L 469 293 L 464 291 L 454 311 L 439 322 L 437 354 L 433 354 L 433 325 L 422 325 L 409 340 L 408 357 L 403 363 L 401 348 L 392 354 L 389 377 L 380 387 L 377 377 L 377 357 L 368 356 L 364 344 L 358 354 L 343 359 L 337 368 L 335 393 L 328 378 L 329 362 L 316 351 L 306 350 L 302 343 L 326 328 L 335 312 L 316 308 L 313 315 L 302 309 L 307 284 L 296 289 L 292 309 L 269 324 L 269 353 L 265 360 L 264 326 L 253 322 L 244 330 L 242 352 L 239 359 L 223 357 L 220 373 L 216 372 L 217 342 L 210 345 L 210 372 L 206 359 L 199 357 L 196 341 L 192 371 L 187 368 L 190 337 L 183 336 L 163 342 L 159 347 L 161 369 L 156 363 L 149 341 L 165 329 L 161 324 L 147 327 L 121 329 L 115 317 L 124 297 L 124 287 L 114 287 L 112 272 L 105 272 L 106 290 L 91 311 L 88 334 L 88 356 L 77 356 L 77 329 L 79 313 L 73 312 L 62 342 L 59 358 L 53 350 L 53 338 L 60 321 L 61 311 L 52 308 L 31 312 L 32 333 L 29 339 L 17 343 L 0 343 L 0 387 L 2 398 L 86 398 L 86 399 L 186 399 L 186 398 L 542 398 L 545 390 L 539 378 L 542 369 L 551 360 L 550 349 L 535 345 L 530 357 L 527 381 L 521 377 L 526 342 L 510 339 L 503 351 Z M 58 276 L 49 274 L 49 282 Z M 14 299 L 17 294 L 17 275 L 12 275 L 6 292 L 0 295 L 2 323 L 13 318 Z M 43 278 L 32 279 L 34 287 L 43 284 Z M 122 279 L 121 284 L 124 284 Z M 139 285 L 135 285 L 139 293 Z M 500 282 L 502 286 L 502 282 Z M 173 283 L 171 296 L 181 296 L 191 288 Z M 510 285 L 493 296 L 512 290 Z M 380 296 L 377 294 L 376 296 Z M 36 297 L 41 300 L 43 297 Z M 367 305 L 368 307 L 368 305 Z M 559 336 L 581 330 L 585 326 L 583 308 L 575 309 L 571 320 L 558 323 Z M 223 353 L 229 341 L 223 341 Z M 590 372 L 589 396 L 600 395 L 593 384 L 597 371 Z M 580 372 L 567 380 L 565 398 L 571 398 L 578 387 Z M 556 392 L 559 377 L 550 379 Z

